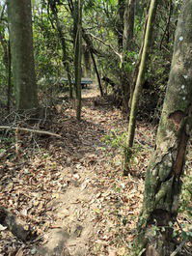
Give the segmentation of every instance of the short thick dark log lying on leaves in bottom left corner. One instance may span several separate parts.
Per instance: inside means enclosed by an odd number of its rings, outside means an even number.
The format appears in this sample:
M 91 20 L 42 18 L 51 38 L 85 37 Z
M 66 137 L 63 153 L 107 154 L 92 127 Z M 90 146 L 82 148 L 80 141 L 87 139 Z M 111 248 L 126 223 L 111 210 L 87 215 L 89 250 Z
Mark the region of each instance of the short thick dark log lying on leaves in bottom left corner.
M 0 207 L 0 224 L 6 226 L 14 236 L 22 242 L 33 238 L 32 232 L 28 229 L 28 225 L 4 207 Z

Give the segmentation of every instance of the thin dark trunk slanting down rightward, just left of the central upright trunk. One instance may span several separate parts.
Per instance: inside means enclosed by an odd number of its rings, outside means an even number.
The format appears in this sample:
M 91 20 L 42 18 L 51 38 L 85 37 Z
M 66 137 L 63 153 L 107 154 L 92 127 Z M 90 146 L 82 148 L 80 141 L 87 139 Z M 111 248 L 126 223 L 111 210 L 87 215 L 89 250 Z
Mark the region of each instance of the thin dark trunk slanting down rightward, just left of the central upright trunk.
M 71 74 L 70 74 L 70 69 L 69 69 L 69 57 L 68 57 L 68 53 L 67 53 L 66 40 L 64 37 L 63 29 L 62 29 L 62 24 L 58 18 L 57 8 L 56 8 L 56 6 L 53 6 L 51 4 L 50 4 L 50 8 L 51 8 L 52 14 L 54 15 L 59 39 L 62 44 L 62 52 L 63 52 L 62 62 L 63 62 L 64 68 L 66 69 L 67 74 L 68 74 L 69 98 L 72 99 L 72 82 L 71 82 Z

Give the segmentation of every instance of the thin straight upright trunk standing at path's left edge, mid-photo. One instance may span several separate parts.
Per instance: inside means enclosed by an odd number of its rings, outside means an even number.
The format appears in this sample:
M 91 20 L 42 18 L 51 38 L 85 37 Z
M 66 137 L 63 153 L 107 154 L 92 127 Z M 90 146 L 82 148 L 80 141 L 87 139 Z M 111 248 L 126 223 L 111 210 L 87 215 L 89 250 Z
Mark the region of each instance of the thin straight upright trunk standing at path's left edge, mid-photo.
M 74 74 L 76 90 L 76 118 L 81 119 L 81 55 L 82 55 L 82 2 L 74 7 Z

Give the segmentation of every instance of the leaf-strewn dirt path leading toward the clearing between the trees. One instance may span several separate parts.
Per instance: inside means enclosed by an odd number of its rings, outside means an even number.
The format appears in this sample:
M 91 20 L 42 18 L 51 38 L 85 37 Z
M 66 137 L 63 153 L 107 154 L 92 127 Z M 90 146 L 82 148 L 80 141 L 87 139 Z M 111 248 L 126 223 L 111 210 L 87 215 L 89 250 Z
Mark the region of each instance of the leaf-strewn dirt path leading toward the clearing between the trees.
M 82 122 L 73 119 L 70 126 L 68 121 L 63 124 L 64 136 L 69 132 L 72 137 L 71 144 L 66 145 L 70 153 L 62 171 L 63 177 L 69 177 L 69 185 L 59 196 L 54 223 L 58 228 L 45 234 L 47 243 L 41 255 L 123 255 L 126 242 L 119 240 L 132 236 L 133 231 L 125 228 L 126 222 L 130 221 L 129 215 L 136 217 L 139 213 L 142 181 L 123 178 L 120 151 L 102 142 L 104 135 L 125 128 L 121 112 L 106 100 L 98 100 L 95 88 L 86 90 L 83 105 Z M 74 117 L 71 109 L 66 114 Z M 132 190 L 132 198 L 121 195 L 126 190 Z M 126 212 L 129 200 L 131 211 Z M 117 234 L 120 238 L 115 244 L 113 237 Z

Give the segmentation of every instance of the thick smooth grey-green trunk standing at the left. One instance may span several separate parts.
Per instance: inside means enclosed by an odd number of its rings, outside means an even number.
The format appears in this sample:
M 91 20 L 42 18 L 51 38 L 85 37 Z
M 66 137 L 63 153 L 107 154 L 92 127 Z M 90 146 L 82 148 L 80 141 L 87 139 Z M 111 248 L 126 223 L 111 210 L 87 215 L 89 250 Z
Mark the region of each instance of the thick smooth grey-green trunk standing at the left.
M 31 0 L 8 0 L 13 77 L 18 110 L 38 107 Z

